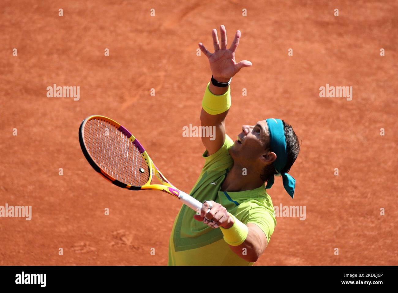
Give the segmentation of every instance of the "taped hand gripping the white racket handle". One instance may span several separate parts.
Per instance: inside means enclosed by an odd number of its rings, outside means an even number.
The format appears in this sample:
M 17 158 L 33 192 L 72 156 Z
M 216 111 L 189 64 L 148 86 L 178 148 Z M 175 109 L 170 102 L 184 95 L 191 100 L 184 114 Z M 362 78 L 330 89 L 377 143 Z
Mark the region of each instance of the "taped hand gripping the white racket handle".
M 228 229 L 234 224 L 234 218 L 228 214 L 226 208 L 215 201 L 205 201 L 202 208 L 193 217 L 212 228 Z

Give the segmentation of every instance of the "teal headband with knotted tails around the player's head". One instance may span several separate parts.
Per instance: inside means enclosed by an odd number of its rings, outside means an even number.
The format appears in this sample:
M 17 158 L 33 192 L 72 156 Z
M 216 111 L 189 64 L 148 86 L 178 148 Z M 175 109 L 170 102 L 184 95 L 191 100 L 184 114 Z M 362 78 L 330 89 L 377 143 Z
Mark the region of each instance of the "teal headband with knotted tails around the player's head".
M 282 176 L 283 187 L 293 199 L 295 194 L 296 179 L 291 177 L 288 173 L 283 173 L 281 170 L 285 167 L 287 161 L 287 151 L 286 151 L 286 137 L 285 128 L 283 127 L 283 122 L 281 119 L 270 118 L 266 119 L 269 131 L 269 144 L 271 145 L 271 151 L 276 154 L 276 160 L 273 162 L 275 171 L 277 174 L 275 176 Z M 272 187 L 275 177 L 272 176 L 267 181 L 266 189 Z

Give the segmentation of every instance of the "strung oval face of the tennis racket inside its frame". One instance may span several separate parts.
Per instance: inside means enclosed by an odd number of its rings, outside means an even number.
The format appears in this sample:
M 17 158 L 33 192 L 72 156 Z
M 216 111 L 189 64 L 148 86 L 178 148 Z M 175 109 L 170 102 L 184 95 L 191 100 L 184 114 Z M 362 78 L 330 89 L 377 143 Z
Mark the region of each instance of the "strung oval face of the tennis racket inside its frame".
M 98 119 L 89 120 L 84 126 L 84 140 L 94 161 L 118 181 L 133 186 L 148 182 L 146 160 L 115 125 Z

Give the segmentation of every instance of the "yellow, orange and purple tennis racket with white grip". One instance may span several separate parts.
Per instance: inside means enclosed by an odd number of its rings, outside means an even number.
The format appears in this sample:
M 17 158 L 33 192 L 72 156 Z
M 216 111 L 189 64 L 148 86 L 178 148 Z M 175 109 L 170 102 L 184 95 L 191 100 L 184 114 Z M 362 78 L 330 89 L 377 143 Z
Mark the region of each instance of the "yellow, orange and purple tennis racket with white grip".
M 172 185 L 133 134 L 116 121 L 105 116 L 88 116 L 80 124 L 79 142 L 94 170 L 114 185 L 129 190 L 160 190 L 195 211 L 201 209 L 202 203 Z M 153 177 L 161 184 L 151 184 Z

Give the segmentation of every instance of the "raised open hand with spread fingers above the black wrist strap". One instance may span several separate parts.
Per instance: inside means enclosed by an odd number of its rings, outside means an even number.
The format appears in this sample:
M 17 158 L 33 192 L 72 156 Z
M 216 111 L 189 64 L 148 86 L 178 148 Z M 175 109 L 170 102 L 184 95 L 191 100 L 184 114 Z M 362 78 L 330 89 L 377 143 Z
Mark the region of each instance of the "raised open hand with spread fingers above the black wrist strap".
M 226 30 L 224 26 L 220 26 L 221 33 L 221 47 L 217 36 L 217 29 L 213 29 L 213 44 L 214 53 L 210 53 L 202 43 L 199 43 L 199 48 L 207 58 L 209 58 L 210 69 L 213 77 L 220 83 L 228 82 L 231 77 L 236 75 L 243 67 L 252 66 L 252 63 L 247 60 L 236 63 L 235 51 L 238 48 L 240 31 L 236 31 L 234 41 L 229 49 L 226 48 Z

